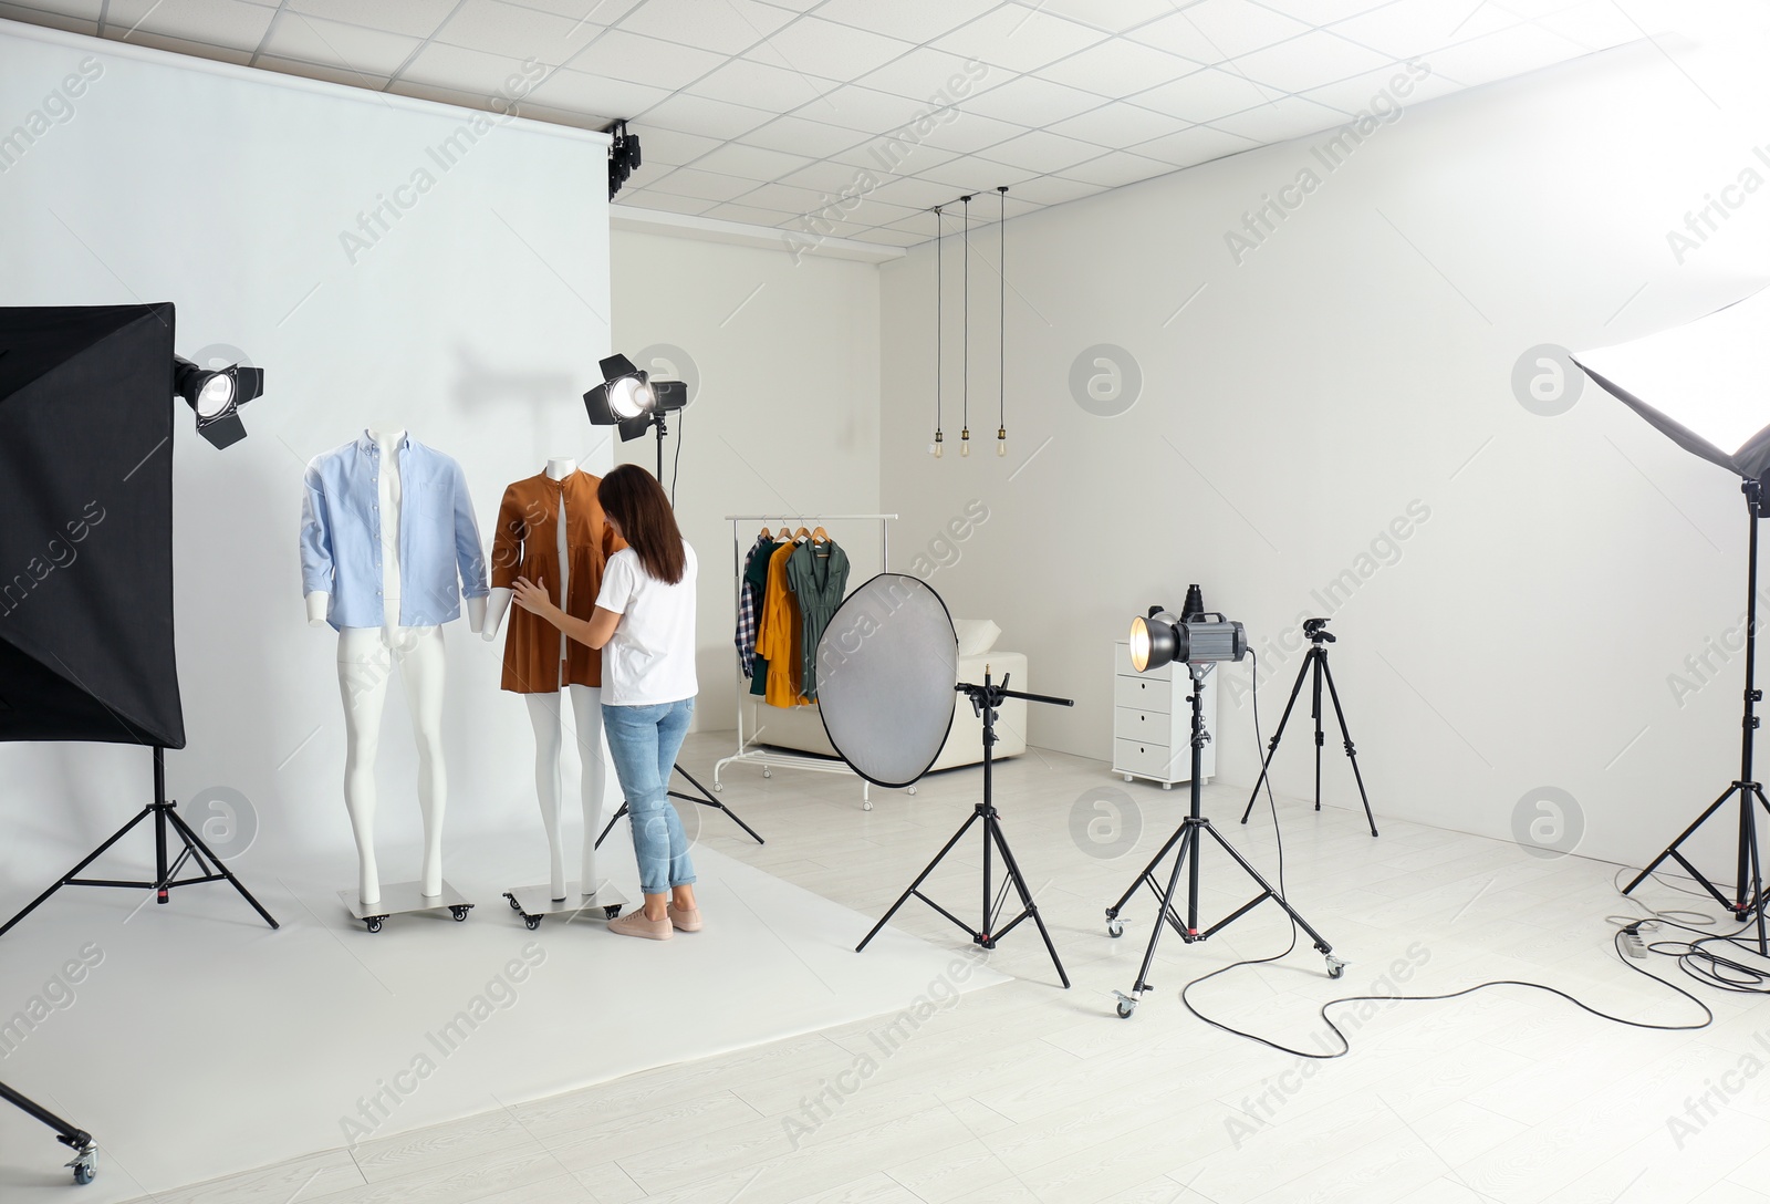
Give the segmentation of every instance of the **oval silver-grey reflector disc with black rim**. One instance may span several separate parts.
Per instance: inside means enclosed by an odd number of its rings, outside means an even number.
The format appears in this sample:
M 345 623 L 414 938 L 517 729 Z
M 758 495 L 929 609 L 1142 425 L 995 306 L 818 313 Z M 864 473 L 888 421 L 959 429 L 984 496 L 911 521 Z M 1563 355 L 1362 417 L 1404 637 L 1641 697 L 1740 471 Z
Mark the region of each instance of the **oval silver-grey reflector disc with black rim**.
M 881 572 L 843 598 L 818 641 L 818 710 L 850 768 L 910 786 L 940 756 L 958 701 L 959 637 L 927 583 Z

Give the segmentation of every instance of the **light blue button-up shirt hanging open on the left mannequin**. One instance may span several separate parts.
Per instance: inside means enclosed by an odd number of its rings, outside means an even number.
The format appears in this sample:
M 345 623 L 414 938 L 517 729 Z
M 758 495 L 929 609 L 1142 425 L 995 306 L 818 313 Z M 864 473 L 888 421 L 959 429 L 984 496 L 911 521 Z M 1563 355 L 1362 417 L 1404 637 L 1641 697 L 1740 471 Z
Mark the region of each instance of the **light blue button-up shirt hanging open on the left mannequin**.
M 460 618 L 462 593 L 490 593 L 480 524 L 460 464 L 411 436 L 398 455 L 400 627 L 437 627 Z M 313 457 L 304 483 L 301 591 L 331 595 L 335 629 L 381 627 L 381 448 L 365 432 Z

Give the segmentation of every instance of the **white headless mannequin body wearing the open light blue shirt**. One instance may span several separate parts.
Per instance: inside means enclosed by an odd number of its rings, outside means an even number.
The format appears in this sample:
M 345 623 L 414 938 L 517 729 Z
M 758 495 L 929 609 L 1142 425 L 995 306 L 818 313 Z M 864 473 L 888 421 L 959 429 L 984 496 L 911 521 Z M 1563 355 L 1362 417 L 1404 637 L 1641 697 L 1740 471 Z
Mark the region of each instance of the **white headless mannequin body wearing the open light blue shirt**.
M 345 774 L 343 799 L 350 813 L 350 830 L 358 848 L 358 901 L 366 908 L 381 903 L 381 875 L 375 864 L 375 756 L 381 744 L 381 717 L 388 698 L 388 678 L 398 671 L 405 687 L 407 708 L 412 715 L 412 735 L 418 742 L 418 807 L 423 814 L 423 869 L 419 894 L 437 898 L 442 894 L 442 813 L 448 799 L 448 777 L 442 758 L 442 685 L 444 655 L 442 627 L 437 623 L 402 625 L 402 542 L 400 521 L 416 513 L 416 506 L 404 508 L 411 482 L 402 482 L 402 459 L 407 446 L 405 430 L 396 421 L 373 421 L 365 432 L 372 444 L 368 457 L 375 466 L 370 503 L 372 513 L 379 515 L 381 542 L 375 549 L 381 568 L 381 607 L 379 614 L 352 614 L 352 623 L 336 618 L 333 598 L 324 590 L 310 590 L 306 595 L 308 623 L 338 627 L 338 687 L 343 698 L 345 721 Z M 347 444 L 349 448 L 349 444 Z M 340 450 L 343 452 L 343 450 Z M 428 452 L 428 450 L 427 450 Z M 435 453 L 428 453 L 435 455 Z M 310 471 L 312 476 L 312 471 Z M 425 482 L 425 489 L 434 489 L 434 482 Z M 310 487 L 312 489 L 312 487 Z M 419 499 L 412 499 L 423 501 Z M 425 517 L 430 517 L 428 513 Z M 340 519 L 329 519 L 338 522 Z M 471 512 L 467 515 L 471 524 Z M 411 538 L 412 533 L 407 533 Z M 304 528 L 304 540 L 306 540 Z M 473 533 L 478 544 L 478 531 Z M 458 540 L 457 540 L 458 545 Z M 467 621 L 473 630 L 480 630 L 485 621 L 483 565 L 480 565 L 480 593 L 474 597 L 474 581 L 467 579 Z M 466 574 L 464 574 L 466 575 Z M 439 614 L 435 606 L 437 591 L 421 583 L 405 583 L 414 597 L 423 593 L 427 600 L 409 609 L 419 614 Z M 450 586 L 453 591 L 453 584 Z M 450 618 L 451 613 L 441 613 Z M 379 627 L 366 625 L 379 618 Z

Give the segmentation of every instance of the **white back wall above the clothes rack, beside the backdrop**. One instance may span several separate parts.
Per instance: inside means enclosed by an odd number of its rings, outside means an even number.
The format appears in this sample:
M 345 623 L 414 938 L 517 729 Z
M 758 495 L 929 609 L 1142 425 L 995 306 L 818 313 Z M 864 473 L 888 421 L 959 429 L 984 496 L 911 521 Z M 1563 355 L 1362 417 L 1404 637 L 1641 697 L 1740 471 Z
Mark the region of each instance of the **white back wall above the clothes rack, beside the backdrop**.
M 701 563 L 696 726 L 736 724 L 727 513 L 874 513 L 880 494 L 880 283 L 873 264 L 616 230 L 614 342 L 687 352 L 697 391 L 666 441 L 666 485 Z M 660 352 L 639 367 L 680 375 Z M 655 361 L 653 361 L 655 359 Z M 655 467 L 648 437 L 616 455 Z M 761 524 L 745 524 L 749 549 Z M 876 528 L 830 524 L 851 583 L 878 572 Z

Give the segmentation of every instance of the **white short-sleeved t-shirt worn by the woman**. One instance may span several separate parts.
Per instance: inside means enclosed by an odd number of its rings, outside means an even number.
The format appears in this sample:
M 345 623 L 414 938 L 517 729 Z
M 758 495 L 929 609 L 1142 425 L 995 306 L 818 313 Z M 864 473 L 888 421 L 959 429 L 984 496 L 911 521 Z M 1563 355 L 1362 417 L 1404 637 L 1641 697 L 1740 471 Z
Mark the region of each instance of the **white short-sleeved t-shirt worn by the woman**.
M 681 581 L 664 584 L 623 547 L 602 570 L 596 606 L 621 621 L 602 650 L 602 701 L 651 706 L 694 698 L 694 549 L 681 542 Z

